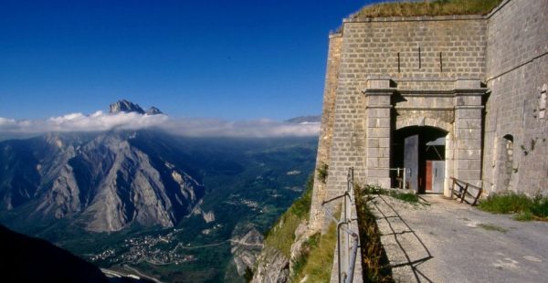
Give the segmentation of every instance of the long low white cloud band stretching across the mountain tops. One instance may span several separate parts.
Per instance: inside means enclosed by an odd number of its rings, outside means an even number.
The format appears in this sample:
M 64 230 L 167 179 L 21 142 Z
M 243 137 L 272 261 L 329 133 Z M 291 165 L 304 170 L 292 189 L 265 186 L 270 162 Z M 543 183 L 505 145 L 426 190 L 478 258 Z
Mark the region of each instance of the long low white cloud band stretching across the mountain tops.
M 166 115 L 135 112 L 90 115 L 70 113 L 47 120 L 14 120 L 0 117 L 0 140 L 23 138 L 57 131 L 111 131 L 160 128 L 172 134 L 191 137 L 283 137 L 314 136 L 320 123 L 287 123 L 272 120 L 222 121 L 216 119 L 171 119 Z

